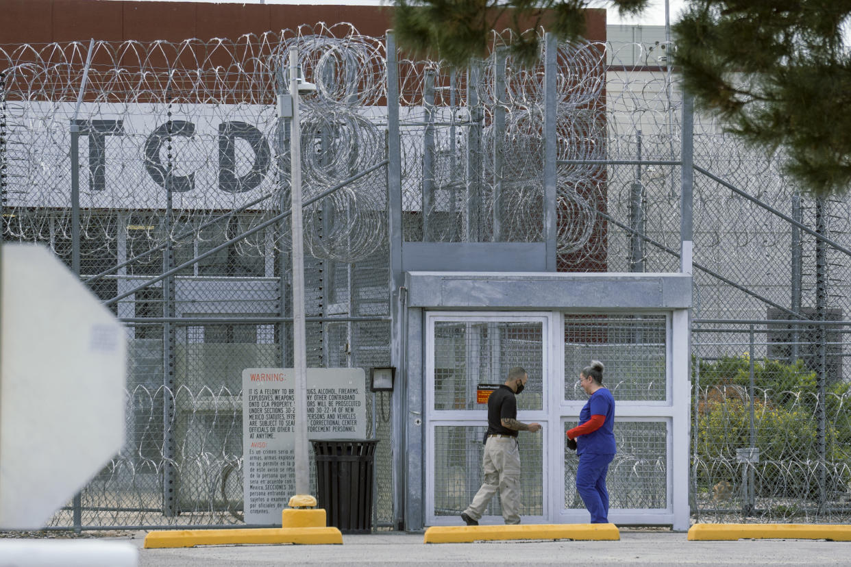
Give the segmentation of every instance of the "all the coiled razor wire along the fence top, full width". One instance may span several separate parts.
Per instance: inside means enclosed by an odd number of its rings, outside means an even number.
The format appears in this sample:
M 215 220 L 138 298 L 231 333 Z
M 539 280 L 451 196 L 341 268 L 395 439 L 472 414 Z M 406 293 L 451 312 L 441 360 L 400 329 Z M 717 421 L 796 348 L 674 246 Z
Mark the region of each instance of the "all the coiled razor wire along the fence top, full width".
M 494 34 L 494 47 L 504 43 L 500 34 Z M 282 162 L 288 155 L 279 147 L 274 104 L 277 75 L 290 45 L 300 46 L 306 79 L 317 84 L 317 93 L 304 100 L 306 121 L 310 120 L 309 107 L 315 103 L 334 106 L 334 113 L 344 116 L 341 120 L 349 124 L 338 128 L 341 138 L 332 140 L 335 145 L 327 145 L 334 151 L 342 148 L 340 155 L 334 154 L 331 160 L 323 158 L 328 160 L 323 167 L 317 168 L 320 152 L 316 148 L 305 152 L 303 167 L 309 179 L 306 191 L 316 195 L 346 179 L 351 170 L 340 157 L 346 152 L 350 158 L 355 152 L 357 160 L 374 163 L 384 148 L 381 137 L 386 122 L 386 112 L 377 106 L 386 96 L 382 38 L 363 37 L 348 25 L 319 24 L 236 40 L 95 42 L 80 118 L 123 121 L 123 133 L 106 133 L 102 142 L 106 151 L 106 191 L 92 186 L 85 175 L 89 144 L 82 139 L 81 234 L 88 241 L 83 258 L 94 262 L 107 252 L 114 253 L 119 240 L 132 242 L 137 248 L 143 241 L 148 247 L 156 247 L 168 238 L 184 248 L 193 242 L 207 246 L 220 241 L 223 234 L 238 235 L 232 229 L 221 228 L 225 220 L 217 229 L 202 228 L 226 211 L 244 207 L 244 213 L 237 215 L 240 219 L 233 225 L 244 230 L 281 211 L 281 191 L 286 190 L 288 179 L 288 169 Z M 656 56 L 662 53 L 662 47 L 666 51 L 673 48 L 666 44 L 611 43 L 566 43 L 558 47 L 557 151 L 559 159 L 570 162 L 558 167 L 557 181 L 557 247 L 560 254 L 571 258 L 565 269 L 629 269 L 634 261 L 629 258 L 629 232 L 613 229 L 598 213 L 605 211 L 628 226 L 629 207 L 634 199 L 632 187 L 639 179 L 643 232 L 669 250 L 679 246 L 677 167 L 647 166 L 637 172 L 632 166 L 577 163 L 636 158 L 639 131 L 644 159 L 678 157 L 682 102 L 677 77 Z M 52 242 L 60 253 L 64 253 L 65 242 L 70 239 L 67 124 L 79 94 L 88 49 L 88 43 L 74 42 L 0 49 L 0 68 L 6 84 L 9 216 L 5 217 L 4 234 L 8 239 Z M 496 65 L 504 65 L 500 68 L 505 71 L 505 94 L 499 98 L 499 105 L 494 94 Z M 540 240 L 540 121 L 535 118 L 534 125 L 529 121 L 530 116 L 540 116 L 542 112 L 543 67 L 523 69 L 511 58 L 503 63 L 497 53 L 483 61 L 478 71 L 450 71 L 439 61 L 400 62 L 405 237 L 424 237 L 416 219 L 422 217 L 423 135 L 429 128 L 423 105 L 427 69 L 434 73 L 434 102 L 428 114 L 435 139 L 431 172 L 435 198 L 432 210 L 426 212 L 431 220 L 428 237 L 436 241 L 493 240 L 492 188 L 494 180 L 500 179 L 500 238 Z M 159 228 L 157 213 L 157 207 L 163 206 L 163 191 L 151 185 L 140 163 L 146 159 L 141 150 L 145 140 L 164 120 L 163 93 L 169 77 L 175 120 L 192 122 L 196 127 L 192 136 L 173 137 L 174 173 L 182 177 L 194 175 L 195 190 L 174 196 L 175 211 L 180 213 L 176 214 L 174 230 L 166 235 Z M 468 88 L 477 99 L 472 106 Z M 501 136 L 505 142 L 501 145 L 493 140 L 498 109 L 505 114 L 505 134 Z M 220 125 L 231 124 L 227 132 L 232 133 L 232 125 L 238 122 L 257 128 L 272 156 L 263 182 L 245 193 L 220 190 L 216 171 L 220 162 Z M 707 116 L 695 116 L 694 124 L 694 161 L 698 166 L 710 168 L 768 207 L 791 213 L 791 198 L 796 191 L 785 180 L 784 156 L 780 152 L 766 156 L 761 150 L 745 148 L 724 132 L 722 124 Z M 316 139 L 313 142 L 316 145 Z M 245 138 L 237 135 L 232 150 L 237 164 L 233 169 L 235 177 L 257 173 L 253 168 L 254 150 Z M 505 156 L 500 172 L 494 171 L 494 150 Z M 164 159 L 161 155 L 160 161 Z M 368 225 L 357 230 L 368 234 L 371 226 L 378 235 L 386 227 L 379 226 L 375 203 L 384 202 L 386 197 L 379 195 L 379 173 L 367 179 L 342 191 L 339 202 L 327 204 L 332 207 L 334 203 L 337 211 L 330 217 L 368 218 L 363 221 Z M 249 205 L 253 201 L 256 202 Z M 802 202 L 803 220 L 812 224 L 808 219 L 813 218 L 814 203 L 807 196 Z M 362 204 L 363 211 L 358 209 Z M 477 207 L 472 207 L 474 204 Z M 851 230 L 842 219 L 848 218 L 848 199 L 831 200 L 825 207 L 831 219 L 831 236 L 847 242 Z M 128 222 L 117 222 L 117 213 L 110 211 L 123 211 Z M 346 236 L 353 229 L 332 231 L 328 222 L 328 216 L 323 217 L 323 230 L 311 230 L 308 238 L 321 240 L 333 232 L 340 235 L 340 240 L 333 246 L 320 240 L 309 243 L 317 254 L 357 258 L 368 251 L 368 242 L 379 240 Z M 597 228 L 589 229 L 591 226 Z M 778 272 L 779 266 L 789 264 L 786 257 L 791 237 L 785 220 L 767 213 L 765 208 L 745 203 L 742 197 L 698 175 L 694 180 L 694 226 L 696 261 L 704 260 L 708 267 L 732 281 L 762 288 L 762 295 L 775 302 L 785 301 L 787 294 L 772 285 L 778 277 L 789 277 Z M 601 230 L 605 238 L 595 237 L 602 234 Z M 290 246 L 285 222 L 272 232 L 271 240 L 259 234 L 238 241 L 232 249 L 237 256 L 261 258 L 270 250 Z M 349 243 L 346 246 L 359 243 L 362 249 L 344 252 L 340 248 L 344 241 Z M 752 262 L 754 247 L 759 247 L 760 264 L 772 269 L 760 270 Z M 323 248 L 328 251 L 323 252 Z M 335 252 L 330 252 L 332 248 Z M 808 269 L 814 263 L 811 248 L 811 244 L 805 245 L 802 260 L 808 293 L 814 287 L 808 276 L 814 273 L 814 269 Z M 646 269 L 670 269 L 669 252 L 650 245 L 643 252 Z M 837 252 L 828 253 L 831 294 L 851 309 L 851 290 L 846 283 L 851 281 L 851 262 Z M 761 312 L 764 308 L 756 300 L 731 293 L 741 309 Z

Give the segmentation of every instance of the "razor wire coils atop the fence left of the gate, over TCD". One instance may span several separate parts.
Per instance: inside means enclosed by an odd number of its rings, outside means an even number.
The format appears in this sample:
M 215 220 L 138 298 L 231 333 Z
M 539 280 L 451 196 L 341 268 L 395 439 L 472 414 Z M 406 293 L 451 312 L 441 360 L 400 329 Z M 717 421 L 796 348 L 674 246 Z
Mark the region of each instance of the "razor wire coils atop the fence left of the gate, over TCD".
M 280 211 L 288 148 L 277 132 L 275 102 L 287 86 L 276 85 L 290 46 L 300 49 L 306 79 L 317 83 L 317 92 L 305 100 L 312 111 L 306 111 L 302 128 L 301 165 L 311 191 L 327 190 L 383 159 L 375 118 L 363 116 L 384 95 L 383 43 L 351 26 L 300 26 L 237 41 L 93 45 L 91 54 L 83 43 L 0 52 L 9 99 L 7 167 L 14 179 L 4 195 L 14 220 L 4 233 L 7 239 L 51 243 L 70 237 L 66 148 L 68 125 L 77 120 L 83 128 L 80 168 L 88 168 L 90 178 L 88 190 L 81 188 L 81 230 L 85 241 L 98 242 L 83 252 L 86 273 L 94 269 L 86 269 L 87 257 L 96 263 L 99 254 L 114 254 L 120 232 L 148 247 L 167 240 L 180 247 L 219 234 L 205 224 L 221 211 L 244 210 L 240 222 L 246 229 Z M 88 82 L 77 105 L 89 55 Z M 180 218 L 171 227 L 163 227 L 157 213 L 166 181 Z M 331 207 L 324 215 L 326 230 L 306 233 L 311 252 L 351 261 L 380 246 L 386 230 L 378 214 L 386 208 L 380 175 L 324 203 Z M 105 210 L 123 210 L 131 218 L 116 230 L 115 215 Z M 337 219 L 330 233 L 329 218 Z M 357 222 L 346 224 L 346 218 Z M 240 256 L 262 258 L 268 244 L 260 234 L 235 249 Z M 289 247 L 287 231 L 274 235 L 271 244 Z

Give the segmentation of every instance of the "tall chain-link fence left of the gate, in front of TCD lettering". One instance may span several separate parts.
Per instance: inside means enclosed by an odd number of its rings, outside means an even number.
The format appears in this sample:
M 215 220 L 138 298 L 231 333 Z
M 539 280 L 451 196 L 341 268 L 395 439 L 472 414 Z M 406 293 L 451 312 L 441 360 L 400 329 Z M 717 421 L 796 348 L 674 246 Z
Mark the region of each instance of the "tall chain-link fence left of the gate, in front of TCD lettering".
M 292 366 L 290 46 L 317 85 L 300 116 L 307 364 L 390 365 L 383 45 L 319 25 L 0 50 L 3 240 L 49 246 L 129 342 L 126 445 L 49 527 L 243 522 L 242 372 Z M 390 395 L 368 392 L 377 525 L 394 520 L 390 422 Z

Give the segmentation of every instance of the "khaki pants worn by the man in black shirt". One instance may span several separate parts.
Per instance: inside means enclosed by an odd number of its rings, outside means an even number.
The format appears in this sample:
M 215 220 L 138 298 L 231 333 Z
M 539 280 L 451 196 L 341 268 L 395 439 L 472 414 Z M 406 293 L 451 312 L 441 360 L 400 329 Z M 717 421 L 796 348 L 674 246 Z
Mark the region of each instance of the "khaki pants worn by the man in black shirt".
M 488 502 L 500 490 L 502 517 L 505 524 L 520 523 L 520 450 L 517 439 L 488 437 L 482 459 L 484 481 L 473 502 L 464 511 L 472 519 L 479 519 Z

